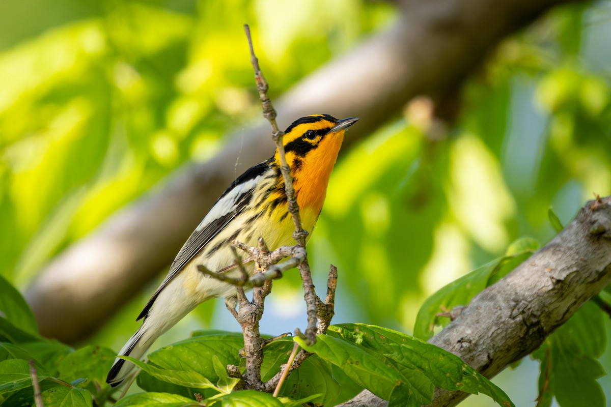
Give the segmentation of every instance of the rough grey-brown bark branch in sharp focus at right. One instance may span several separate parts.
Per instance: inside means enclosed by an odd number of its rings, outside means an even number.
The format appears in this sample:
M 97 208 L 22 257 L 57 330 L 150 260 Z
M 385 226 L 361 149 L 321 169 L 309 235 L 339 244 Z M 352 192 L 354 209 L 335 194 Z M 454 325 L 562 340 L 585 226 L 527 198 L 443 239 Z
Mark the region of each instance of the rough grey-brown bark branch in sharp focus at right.
M 491 378 L 538 348 L 611 283 L 611 196 L 588 202 L 566 228 L 505 278 L 477 295 L 431 344 Z M 437 389 L 434 406 L 468 394 Z M 385 406 L 364 391 L 343 406 Z

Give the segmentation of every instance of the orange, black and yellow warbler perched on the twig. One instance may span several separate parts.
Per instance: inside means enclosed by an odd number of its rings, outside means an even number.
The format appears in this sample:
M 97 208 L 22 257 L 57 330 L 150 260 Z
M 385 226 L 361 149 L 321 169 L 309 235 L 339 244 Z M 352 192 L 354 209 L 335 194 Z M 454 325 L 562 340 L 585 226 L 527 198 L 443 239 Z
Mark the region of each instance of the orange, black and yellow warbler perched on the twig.
M 293 176 L 302 228 L 309 232 L 307 239 L 323 207 L 344 132 L 357 120 L 309 115 L 293 121 L 285 131 L 282 144 Z M 229 302 L 235 298 L 235 287 L 209 278 L 198 265 L 213 272 L 236 272 L 233 240 L 257 247 L 262 237 L 273 250 L 290 245 L 294 230 L 276 149 L 270 159 L 249 168 L 229 185 L 178 251 L 166 278 L 138 315 L 136 320 L 142 319 L 142 325 L 119 351 L 106 383 L 119 386 L 134 368 L 119 356 L 140 359 L 161 334 L 198 304 L 217 297 Z M 249 273 L 254 272 L 254 264 L 246 267 Z

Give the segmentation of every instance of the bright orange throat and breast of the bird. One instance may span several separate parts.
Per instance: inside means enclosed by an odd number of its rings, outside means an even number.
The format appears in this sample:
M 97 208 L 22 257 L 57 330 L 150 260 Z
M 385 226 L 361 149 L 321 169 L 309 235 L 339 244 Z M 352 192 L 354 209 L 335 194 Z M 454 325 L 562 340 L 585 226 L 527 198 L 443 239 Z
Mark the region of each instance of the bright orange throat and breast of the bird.
M 289 165 L 291 175 L 293 175 L 297 203 L 301 211 L 312 213 L 313 222 L 316 222 L 316 218 L 323 208 L 329 177 L 342 146 L 343 133 L 343 131 L 340 131 L 335 134 L 328 134 L 321 140 L 318 148 L 310 151 L 301 159 L 295 157 L 293 153 L 291 153 L 292 157 L 287 156 L 287 162 L 292 162 Z

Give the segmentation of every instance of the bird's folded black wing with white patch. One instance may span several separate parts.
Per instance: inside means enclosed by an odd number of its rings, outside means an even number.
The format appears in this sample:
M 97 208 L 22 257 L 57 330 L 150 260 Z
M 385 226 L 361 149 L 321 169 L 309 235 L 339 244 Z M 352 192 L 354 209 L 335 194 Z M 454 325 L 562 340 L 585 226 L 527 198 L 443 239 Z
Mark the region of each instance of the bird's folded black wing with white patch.
M 195 258 L 197 254 L 225 228 L 225 226 L 229 225 L 233 218 L 246 209 L 252 200 L 257 184 L 265 176 L 265 171 L 268 170 L 268 168 L 269 165 L 266 162 L 257 164 L 249 168 L 249 170 L 246 170 L 245 173 L 229 185 L 229 188 L 227 188 L 218 201 L 216 201 L 212 209 L 210 209 L 210 212 L 203 218 L 202 222 L 200 222 L 191 236 L 189 236 L 185 245 L 180 249 L 170 266 L 166 278 L 155 291 L 151 299 L 148 300 L 148 303 L 140 315 L 138 315 L 137 320 L 147 315 L 161 290 L 170 283 L 172 278 L 174 278 L 189 261 Z

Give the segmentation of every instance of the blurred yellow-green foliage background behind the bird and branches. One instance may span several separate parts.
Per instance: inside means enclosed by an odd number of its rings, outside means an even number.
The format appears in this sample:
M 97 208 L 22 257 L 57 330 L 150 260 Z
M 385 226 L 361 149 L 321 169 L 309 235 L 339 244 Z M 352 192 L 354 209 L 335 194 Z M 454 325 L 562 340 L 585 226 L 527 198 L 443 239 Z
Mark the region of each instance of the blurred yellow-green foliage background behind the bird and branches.
M 399 12 L 357 0 L 1 2 L 0 273 L 26 290 L 71 243 L 260 116 L 243 23 L 274 98 Z M 317 287 L 329 263 L 339 270 L 334 322 L 411 333 L 435 290 L 519 237 L 549 241 L 550 208 L 566 224 L 611 193 L 610 39 L 610 2 L 554 9 L 502 41 L 452 120 L 431 118 L 430 99 L 406 100 L 343 149 L 309 245 Z M 163 275 L 77 345 L 118 350 Z M 305 326 L 302 302 L 287 273 L 262 330 Z M 239 329 L 221 302 L 204 304 L 155 347 L 202 327 Z M 601 362 L 611 366 L 608 352 Z M 495 381 L 528 406 L 537 376 L 524 361 Z M 611 381 L 599 383 L 609 398 Z

